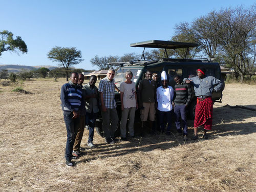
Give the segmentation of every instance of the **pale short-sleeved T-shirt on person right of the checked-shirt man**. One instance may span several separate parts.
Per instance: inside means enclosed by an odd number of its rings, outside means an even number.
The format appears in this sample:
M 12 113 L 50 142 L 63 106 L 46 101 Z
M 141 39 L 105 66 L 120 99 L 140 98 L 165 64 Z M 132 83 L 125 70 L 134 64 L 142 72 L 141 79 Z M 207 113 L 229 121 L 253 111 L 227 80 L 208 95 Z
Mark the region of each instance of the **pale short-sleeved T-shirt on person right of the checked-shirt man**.
M 120 84 L 120 91 L 123 92 L 123 106 L 124 108 L 135 108 L 136 98 L 135 98 L 135 82 L 132 81 L 131 84 L 122 82 Z

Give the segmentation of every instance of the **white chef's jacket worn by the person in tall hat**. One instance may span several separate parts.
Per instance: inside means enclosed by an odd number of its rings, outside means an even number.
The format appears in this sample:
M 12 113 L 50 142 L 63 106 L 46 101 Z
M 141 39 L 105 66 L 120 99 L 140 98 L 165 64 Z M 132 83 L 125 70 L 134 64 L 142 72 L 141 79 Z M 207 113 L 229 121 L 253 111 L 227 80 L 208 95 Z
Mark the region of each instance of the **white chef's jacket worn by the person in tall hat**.
M 172 111 L 173 98 L 174 89 L 171 86 L 168 86 L 166 89 L 164 89 L 162 86 L 157 88 L 157 109 L 163 112 Z

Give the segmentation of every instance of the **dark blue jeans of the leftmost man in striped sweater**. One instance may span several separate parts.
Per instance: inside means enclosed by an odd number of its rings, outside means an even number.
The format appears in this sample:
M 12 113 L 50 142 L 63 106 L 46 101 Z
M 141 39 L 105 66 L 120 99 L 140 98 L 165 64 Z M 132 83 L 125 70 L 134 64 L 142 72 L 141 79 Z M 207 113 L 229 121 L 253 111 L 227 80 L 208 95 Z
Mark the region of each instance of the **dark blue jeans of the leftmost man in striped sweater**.
M 65 152 L 65 158 L 66 161 L 69 161 L 72 159 L 72 151 L 73 151 L 73 145 L 75 142 L 77 130 L 80 126 L 80 117 L 73 119 L 73 114 L 63 114 L 64 121 L 66 123 L 66 129 L 67 129 L 67 143 L 66 143 L 66 152 Z

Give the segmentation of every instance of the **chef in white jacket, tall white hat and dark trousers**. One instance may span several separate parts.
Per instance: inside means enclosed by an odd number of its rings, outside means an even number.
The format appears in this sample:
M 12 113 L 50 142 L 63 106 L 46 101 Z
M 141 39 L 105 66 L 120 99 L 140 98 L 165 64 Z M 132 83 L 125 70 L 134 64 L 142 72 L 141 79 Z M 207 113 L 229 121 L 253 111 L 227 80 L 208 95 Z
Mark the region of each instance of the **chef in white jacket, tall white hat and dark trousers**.
M 170 126 L 172 125 L 172 110 L 174 89 L 167 85 L 167 75 L 163 71 L 161 73 L 162 86 L 157 88 L 157 109 L 159 110 L 158 120 L 160 122 L 160 129 L 162 133 L 170 135 Z M 167 129 L 166 129 L 166 124 Z

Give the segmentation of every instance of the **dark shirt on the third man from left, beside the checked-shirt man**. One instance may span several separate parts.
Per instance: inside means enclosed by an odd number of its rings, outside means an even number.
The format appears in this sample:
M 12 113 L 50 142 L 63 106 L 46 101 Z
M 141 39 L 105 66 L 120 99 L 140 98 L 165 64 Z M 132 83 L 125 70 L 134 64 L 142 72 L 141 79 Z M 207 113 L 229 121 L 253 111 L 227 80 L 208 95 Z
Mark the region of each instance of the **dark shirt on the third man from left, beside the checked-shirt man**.
M 86 95 L 94 95 L 94 94 L 98 95 L 98 88 L 95 85 L 91 86 L 90 83 L 87 83 L 85 86 L 83 86 L 82 90 L 84 90 Z M 97 98 L 87 98 L 86 99 L 86 112 L 87 113 L 99 112 Z

